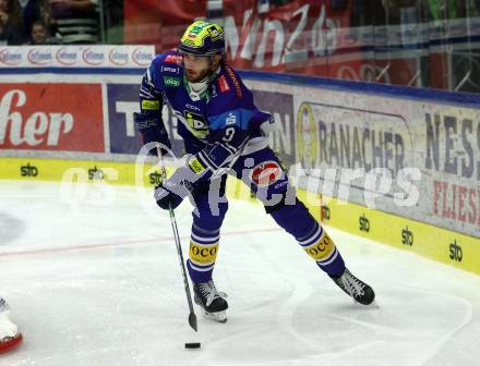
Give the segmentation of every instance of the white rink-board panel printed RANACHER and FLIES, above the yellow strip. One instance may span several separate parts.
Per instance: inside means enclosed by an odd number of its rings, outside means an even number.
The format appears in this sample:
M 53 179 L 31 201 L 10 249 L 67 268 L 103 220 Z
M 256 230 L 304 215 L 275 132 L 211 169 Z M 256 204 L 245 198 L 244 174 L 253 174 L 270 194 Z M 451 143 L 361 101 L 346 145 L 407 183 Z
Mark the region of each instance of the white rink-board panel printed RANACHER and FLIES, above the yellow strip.
M 480 107 L 250 85 L 260 96 L 274 89 L 293 97 L 295 119 L 286 126 L 289 115 L 280 117 L 272 143 L 289 164 L 298 164 L 300 187 L 480 236 Z

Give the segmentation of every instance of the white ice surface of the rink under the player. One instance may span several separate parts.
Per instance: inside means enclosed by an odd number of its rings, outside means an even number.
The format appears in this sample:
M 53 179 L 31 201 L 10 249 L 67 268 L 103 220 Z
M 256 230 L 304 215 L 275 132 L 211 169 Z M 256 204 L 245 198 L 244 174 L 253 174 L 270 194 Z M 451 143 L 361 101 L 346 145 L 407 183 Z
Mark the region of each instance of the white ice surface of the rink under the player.
M 177 216 L 187 254 L 189 205 Z M 0 365 L 480 364 L 480 277 L 329 233 L 376 307 L 352 304 L 261 206 L 230 200 L 214 272 L 228 321 L 197 312 L 195 334 L 151 192 L 0 182 L 0 293 L 24 334 Z

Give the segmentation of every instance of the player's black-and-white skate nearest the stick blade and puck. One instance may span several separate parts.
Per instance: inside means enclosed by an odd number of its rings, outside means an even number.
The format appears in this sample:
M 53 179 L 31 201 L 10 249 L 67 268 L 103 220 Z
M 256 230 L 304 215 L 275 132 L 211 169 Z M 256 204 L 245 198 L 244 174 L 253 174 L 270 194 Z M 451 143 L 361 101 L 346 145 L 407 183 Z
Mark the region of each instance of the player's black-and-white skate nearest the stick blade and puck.
M 194 300 L 202 307 L 203 316 L 218 322 L 227 321 L 227 294 L 218 292 L 213 280 L 193 284 Z

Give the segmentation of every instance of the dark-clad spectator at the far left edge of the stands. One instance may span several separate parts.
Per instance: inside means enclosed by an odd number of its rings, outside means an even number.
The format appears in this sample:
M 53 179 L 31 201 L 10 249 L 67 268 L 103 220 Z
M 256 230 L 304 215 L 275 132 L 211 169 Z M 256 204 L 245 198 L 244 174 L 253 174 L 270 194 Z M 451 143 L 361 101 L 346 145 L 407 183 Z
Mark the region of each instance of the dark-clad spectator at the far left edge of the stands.
M 0 42 L 22 45 L 25 40 L 19 0 L 0 0 Z

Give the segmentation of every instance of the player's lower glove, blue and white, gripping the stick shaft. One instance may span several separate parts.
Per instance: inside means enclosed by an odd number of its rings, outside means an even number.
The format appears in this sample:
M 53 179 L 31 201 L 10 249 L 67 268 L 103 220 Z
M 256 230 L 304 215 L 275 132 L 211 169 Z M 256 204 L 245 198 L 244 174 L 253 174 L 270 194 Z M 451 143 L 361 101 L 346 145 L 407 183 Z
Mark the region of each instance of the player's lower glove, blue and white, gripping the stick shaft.
M 177 208 L 188 195 L 195 195 L 199 179 L 189 167 L 177 169 L 170 179 L 155 187 L 157 205 L 163 209 Z

